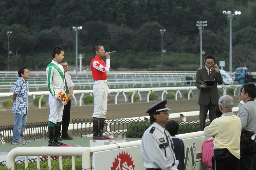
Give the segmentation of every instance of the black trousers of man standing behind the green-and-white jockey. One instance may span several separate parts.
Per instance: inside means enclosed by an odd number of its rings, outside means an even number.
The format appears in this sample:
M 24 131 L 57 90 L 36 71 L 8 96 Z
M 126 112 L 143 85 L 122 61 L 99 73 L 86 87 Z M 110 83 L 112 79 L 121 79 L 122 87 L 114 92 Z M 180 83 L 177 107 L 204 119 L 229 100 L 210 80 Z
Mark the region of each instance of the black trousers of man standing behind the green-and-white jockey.
M 70 121 L 70 108 L 71 108 L 71 100 L 68 101 L 66 105 L 64 105 L 63 115 L 62 115 L 62 122 L 60 122 L 60 129 L 62 124 L 62 135 L 59 130 L 59 137 L 68 137 L 68 125 Z

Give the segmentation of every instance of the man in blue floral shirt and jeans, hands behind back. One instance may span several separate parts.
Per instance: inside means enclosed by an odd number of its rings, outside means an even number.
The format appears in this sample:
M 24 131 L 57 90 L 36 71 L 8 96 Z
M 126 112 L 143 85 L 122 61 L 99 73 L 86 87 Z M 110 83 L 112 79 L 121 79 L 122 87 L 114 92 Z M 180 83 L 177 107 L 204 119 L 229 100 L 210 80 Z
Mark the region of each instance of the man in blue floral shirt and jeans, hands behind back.
M 12 112 L 15 114 L 13 127 L 13 143 L 14 145 L 24 145 L 29 142 L 25 141 L 23 132 L 27 122 L 27 112 L 29 111 L 29 70 L 27 67 L 20 67 L 18 70 L 20 78 L 13 86 L 12 94 Z

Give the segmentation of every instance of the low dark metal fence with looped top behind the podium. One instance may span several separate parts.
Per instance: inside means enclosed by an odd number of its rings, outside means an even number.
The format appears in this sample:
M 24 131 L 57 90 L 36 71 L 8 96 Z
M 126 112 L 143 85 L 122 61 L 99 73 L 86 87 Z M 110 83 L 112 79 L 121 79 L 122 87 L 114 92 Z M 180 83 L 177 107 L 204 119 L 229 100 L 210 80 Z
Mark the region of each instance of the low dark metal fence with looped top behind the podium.
M 90 135 L 93 134 L 92 119 L 72 119 L 72 134 Z M 199 131 L 199 122 L 178 122 L 180 129 L 178 134 Z M 106 119 L 105 135 L 112 135 L 118 138 L 141 138 L 144 131 L 150 126 L 149 120 L 141 119 Z M 13 125 L 0 126 L 0 143 L 13 142 Z M 48 122 L 27 123 L 24 131 L 25 140 L 48 138 Z

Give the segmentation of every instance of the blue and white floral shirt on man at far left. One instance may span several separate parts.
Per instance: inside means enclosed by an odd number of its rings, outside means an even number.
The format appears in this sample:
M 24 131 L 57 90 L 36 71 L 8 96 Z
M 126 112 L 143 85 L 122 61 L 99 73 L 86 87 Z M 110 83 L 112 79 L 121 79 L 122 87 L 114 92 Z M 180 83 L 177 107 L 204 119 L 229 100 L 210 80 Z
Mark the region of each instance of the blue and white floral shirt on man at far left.
M 27 114 L 29 111 L 29 82 L 20 77 L 14 83 L 13 94 L 17 94 L 17 97 L 12 105 L 12 112 L 18 114 Z

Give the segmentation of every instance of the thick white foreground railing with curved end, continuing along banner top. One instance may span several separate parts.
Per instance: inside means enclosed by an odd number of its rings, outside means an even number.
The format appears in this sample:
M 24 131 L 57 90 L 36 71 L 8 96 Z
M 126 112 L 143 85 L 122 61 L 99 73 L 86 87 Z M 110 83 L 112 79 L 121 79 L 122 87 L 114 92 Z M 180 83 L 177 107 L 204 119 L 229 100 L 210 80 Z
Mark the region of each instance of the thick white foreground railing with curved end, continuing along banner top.
M 202 137 L 203 131 L 187 133 L 177 135 L 178 138 L 188 139 L 188 138 L 196 138 Z M 124 142 L 112 144 L 112 145 L 103 145 L 97 147 L 17 147 L 12 149 L 7 155 L 6 166 L 14 170 L 14 161 L 18 156 L 25 156 L 25 168 L 28 166 L 28 156 L 35 155 L 37 156 L 37 168 L 40 169 L 39 156 L 41 155 L 49 155 L 48 156 L 48 166 L 51 169 L 51 157 L 50 155 L 59 155 L 60 158 L 60 169 L 63 169 L 62 166 L 62 157 L 71 155 L 72 156 L 72 170 L 75 170 L 75 156 L 82 156 L 82 169 L 91 169 L 91 155 L 90 153 L 98 152 L 98 151 L 108 151 L 118 148 L 128 148 L 133 146 L 140 146 L 141 140 L 132 141 L 132 142 Z

